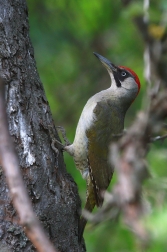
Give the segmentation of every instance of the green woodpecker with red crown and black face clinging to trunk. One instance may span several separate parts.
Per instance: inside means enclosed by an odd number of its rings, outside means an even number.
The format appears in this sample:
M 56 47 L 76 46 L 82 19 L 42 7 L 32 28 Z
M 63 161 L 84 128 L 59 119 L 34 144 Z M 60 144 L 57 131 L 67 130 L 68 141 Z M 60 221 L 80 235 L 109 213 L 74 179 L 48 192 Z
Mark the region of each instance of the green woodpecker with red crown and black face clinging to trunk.
M 109 145 L 124 129 L 125 114 L 140 90 L 138 76 L 124 66 L 115 66 L 94 53 L 107 69 L 111 86 L 86 103 L 80 116 L 73 144 L 64 149 L 73 156 L 77 169 L 87 181 L 85 209 L 102 206 L 102 192 L 109 186 L 114 168 L 108 160 Z M 81 217 L 79 239 L 86 225 Z

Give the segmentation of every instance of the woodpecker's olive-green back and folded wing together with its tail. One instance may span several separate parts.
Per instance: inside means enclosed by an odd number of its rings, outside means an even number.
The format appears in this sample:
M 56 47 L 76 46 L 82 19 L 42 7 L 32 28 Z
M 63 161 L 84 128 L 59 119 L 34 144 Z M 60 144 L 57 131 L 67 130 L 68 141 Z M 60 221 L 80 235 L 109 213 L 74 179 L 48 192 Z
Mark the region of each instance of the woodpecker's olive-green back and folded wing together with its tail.
M 106 190 L 113 174 L 113 167 L 108 161 L 109 145 L 116 141 L 124 128 L 124 114 L 118 109 L 118 104 L 108 101 L 98 102 L 94 109 L 95 121 L 86 131 L 88 138 L 89 177 L 87 178 L 87 198 L 85 209 L 92 212 L 95 205 L 103 204 L 102 191 Z M 80 219 L 80 234 L 82 237 L 87 220 Z

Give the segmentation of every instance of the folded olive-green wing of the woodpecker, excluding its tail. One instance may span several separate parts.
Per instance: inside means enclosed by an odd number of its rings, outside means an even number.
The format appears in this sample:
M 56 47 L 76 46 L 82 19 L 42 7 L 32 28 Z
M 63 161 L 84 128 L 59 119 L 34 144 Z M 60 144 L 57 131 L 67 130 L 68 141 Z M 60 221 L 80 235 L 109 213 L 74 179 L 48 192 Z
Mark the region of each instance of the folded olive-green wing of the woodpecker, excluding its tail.
M 94 187 L 96 205 L 103 203 L 102 191 L 106 190 L 113 174 L 113 167 L 108 161 L 109 145 L 113 134 L 118 134 L 122 128 L 118 124 L 114 110 L 108 102 L 98 102 L 95 109 L 95 122 L 87 130 L 88 138 L 88 162 L 90 180 Z M 118 124 L 120 125 L 120 123 Z

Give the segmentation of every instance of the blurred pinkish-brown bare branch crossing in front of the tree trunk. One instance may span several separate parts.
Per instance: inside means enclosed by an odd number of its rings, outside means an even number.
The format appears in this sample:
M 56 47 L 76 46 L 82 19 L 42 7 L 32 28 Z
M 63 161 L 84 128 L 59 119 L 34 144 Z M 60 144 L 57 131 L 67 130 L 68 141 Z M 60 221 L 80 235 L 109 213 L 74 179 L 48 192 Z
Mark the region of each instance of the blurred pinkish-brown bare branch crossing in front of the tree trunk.
M 19 215 L 20 224 L 34 247 L 39 252 L 56 252 L 46 237 L 39 220 L 33 212 L 31 202 L 26 192 L 19 161 L 8 131 L 5 107 L 4 82 L 0 80 L 0 158 L 10 190 L 13 205 Z

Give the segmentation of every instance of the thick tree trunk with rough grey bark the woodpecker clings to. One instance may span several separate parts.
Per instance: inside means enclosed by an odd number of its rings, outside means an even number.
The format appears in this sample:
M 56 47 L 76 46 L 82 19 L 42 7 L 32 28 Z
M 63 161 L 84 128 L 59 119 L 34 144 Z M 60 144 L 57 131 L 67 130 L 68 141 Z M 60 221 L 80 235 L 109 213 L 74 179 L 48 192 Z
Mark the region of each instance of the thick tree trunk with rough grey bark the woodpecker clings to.
M 0 0 L 0 75 L 6 79 L 9 130 L 34 211 L 60 251 L 85 251 L 78 244 L 80 199 L 63 155 L 39 79 L 29 38 L 25 0 Z M 0 251 L 35 251 L 26 238 L 0 169 Z

